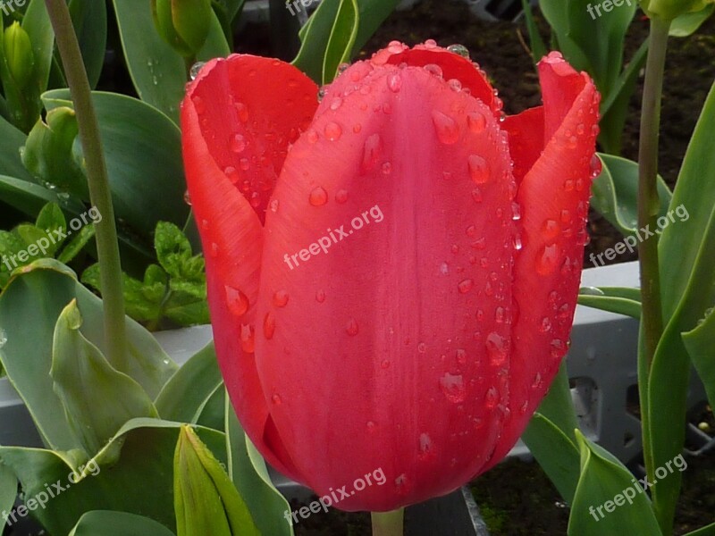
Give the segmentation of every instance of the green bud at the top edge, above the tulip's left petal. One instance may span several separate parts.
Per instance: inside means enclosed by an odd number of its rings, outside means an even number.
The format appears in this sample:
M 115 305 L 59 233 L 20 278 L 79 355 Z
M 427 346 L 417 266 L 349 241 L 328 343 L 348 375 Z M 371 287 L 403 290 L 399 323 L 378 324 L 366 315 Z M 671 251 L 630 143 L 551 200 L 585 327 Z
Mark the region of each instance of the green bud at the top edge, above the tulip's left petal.
M 211 29 L 211 0 L 151 0 L 159 35 L 179 54 L 195 56 Z

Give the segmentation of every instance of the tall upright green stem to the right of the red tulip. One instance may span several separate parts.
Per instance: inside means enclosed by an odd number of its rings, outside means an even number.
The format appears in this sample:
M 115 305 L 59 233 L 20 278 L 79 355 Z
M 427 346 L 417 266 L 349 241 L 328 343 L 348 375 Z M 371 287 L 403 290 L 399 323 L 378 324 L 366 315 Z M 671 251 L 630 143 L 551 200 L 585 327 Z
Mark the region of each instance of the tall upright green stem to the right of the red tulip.
M 648 60 L 645 65 L 643 107 L 641 111 L 641 137 L 638 158 L 638 226 L 657 229 L 660 212 L 658 196 L 658 140 L 660 132 L 660 101 L 662 99 L 663 72 L 668 48 L 670 21 L 651 19 Z M 641 425 L 643 431 L 644 461 L 648 481 L 655 482 L 655 467 L 650 431 L 651 417 L 648 403 L 648 378 L 655 350 L 663 333 L 663 314 L 660 303 L 660 264 L 658 239 L 641 240 L 638 244 L 638 262 L 641 270 L 642 335 L 638 351 L 638 388 L 641 392 Z

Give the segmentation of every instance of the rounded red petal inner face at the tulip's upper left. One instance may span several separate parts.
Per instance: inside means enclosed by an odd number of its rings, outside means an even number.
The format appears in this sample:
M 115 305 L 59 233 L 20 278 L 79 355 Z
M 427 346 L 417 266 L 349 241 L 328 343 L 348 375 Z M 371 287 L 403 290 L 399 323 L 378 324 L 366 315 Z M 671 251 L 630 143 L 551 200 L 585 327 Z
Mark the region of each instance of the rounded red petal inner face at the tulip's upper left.
M 214 162 L 263 222 L 288 148 L 313 119 L 317 86 L 290 63 L 232 54 L 206 65 L 188 95 Z

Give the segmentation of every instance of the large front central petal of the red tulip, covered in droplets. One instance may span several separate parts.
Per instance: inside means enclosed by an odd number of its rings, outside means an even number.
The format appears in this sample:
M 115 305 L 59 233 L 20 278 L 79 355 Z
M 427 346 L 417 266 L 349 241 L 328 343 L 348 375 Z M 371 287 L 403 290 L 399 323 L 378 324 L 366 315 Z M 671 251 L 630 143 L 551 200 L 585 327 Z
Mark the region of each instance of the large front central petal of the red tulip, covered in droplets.
M 257 366 L 304 481 L 370 474 L 338 507 L 391 510 L 456 489 L 501 433 L 516 185 L 481 100 L 420 67 L 342 77 L 266 218 Z

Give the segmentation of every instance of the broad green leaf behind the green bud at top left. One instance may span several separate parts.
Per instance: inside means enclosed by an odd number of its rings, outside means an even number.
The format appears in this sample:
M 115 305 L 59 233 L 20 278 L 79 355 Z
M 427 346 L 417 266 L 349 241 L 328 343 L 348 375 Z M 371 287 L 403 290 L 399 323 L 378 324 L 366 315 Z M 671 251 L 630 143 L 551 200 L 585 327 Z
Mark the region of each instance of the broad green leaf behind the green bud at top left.
M 141 100 L 178 123 L 179 103 L 188 80 L 186 65 L 181 54 L 159 37 L 150 4 L 147 0 L 114 0 L 124 58 Z M 206 61 L 230 53 L 221 23 L 212 13 L 209 37 L 197 59 Z

